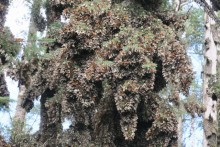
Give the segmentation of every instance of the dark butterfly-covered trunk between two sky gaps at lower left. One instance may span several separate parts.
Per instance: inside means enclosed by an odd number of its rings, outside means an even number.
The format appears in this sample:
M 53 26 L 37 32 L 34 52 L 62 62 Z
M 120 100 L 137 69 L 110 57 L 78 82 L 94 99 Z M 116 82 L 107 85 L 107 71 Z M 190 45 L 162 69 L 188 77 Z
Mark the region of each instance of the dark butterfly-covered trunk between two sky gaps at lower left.
M 54 91 L 46 90 L 41 96 L 41 122 L 39 144 L 41 146 L 56 146 L 56 140 L 62 131 L 61 105 L 51 102 Z

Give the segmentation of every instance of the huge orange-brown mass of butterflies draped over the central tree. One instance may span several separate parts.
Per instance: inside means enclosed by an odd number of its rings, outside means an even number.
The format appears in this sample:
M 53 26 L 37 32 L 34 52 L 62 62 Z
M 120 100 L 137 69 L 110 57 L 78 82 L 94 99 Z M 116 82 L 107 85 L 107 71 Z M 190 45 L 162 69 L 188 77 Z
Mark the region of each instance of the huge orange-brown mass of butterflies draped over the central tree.
M 193 73 L 176 35 L 183 16 L 155 15 L 135 1 L 50 3 L 69 22 L 56 36 L 57 46 L 49 46 L 49 57 L 14 70 L 28 88 L 27 99 L 53 91 L 48 103 L 60 103 L 60 117 L 73 118 L 69 144 L 175 144 L 175 113 L 157 92 L 172 83 L 188 94 Z

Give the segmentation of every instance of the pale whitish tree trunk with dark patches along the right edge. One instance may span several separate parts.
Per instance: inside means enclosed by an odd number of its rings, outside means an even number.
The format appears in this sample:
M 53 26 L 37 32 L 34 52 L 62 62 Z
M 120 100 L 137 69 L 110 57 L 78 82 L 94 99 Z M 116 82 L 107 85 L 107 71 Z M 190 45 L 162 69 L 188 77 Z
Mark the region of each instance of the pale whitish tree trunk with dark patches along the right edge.
M 210 1 L 207 0 L 210 4 Z M 205 14 L 205 51 L 204 51 L 204 76 L 203 76 L 203 100 L 206 106 L 204 114 L 204 147 L 217 146 L 217 108 L 216 98 L 213 93 L 212 83 L 216 78 L 217 47 L 213 39 L 211 26 L 214 20 Z

